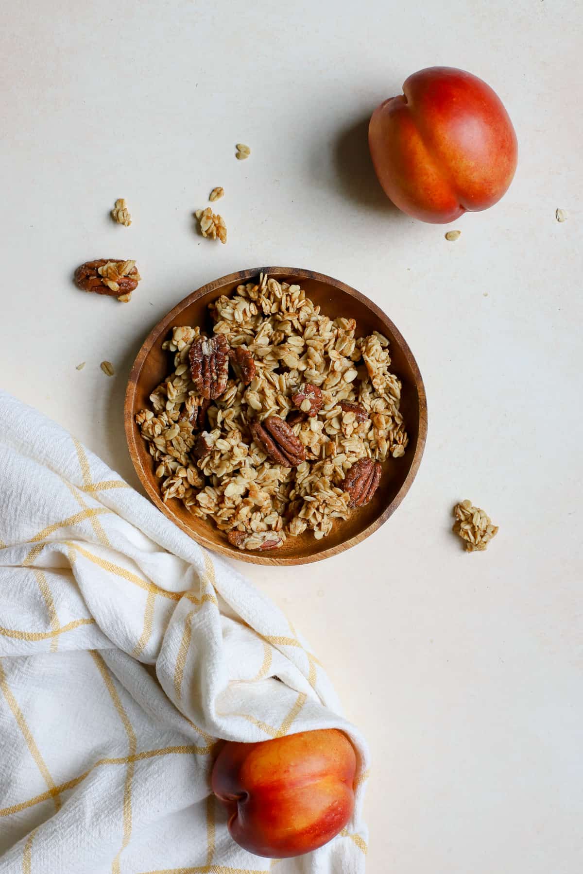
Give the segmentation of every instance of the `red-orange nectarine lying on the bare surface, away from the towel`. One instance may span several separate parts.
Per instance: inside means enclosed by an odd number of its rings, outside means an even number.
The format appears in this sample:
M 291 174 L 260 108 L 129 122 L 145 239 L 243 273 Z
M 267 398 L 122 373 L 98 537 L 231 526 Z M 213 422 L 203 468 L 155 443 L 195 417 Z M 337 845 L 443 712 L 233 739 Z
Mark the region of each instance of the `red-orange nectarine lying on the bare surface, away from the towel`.
M 435 224 L 488 209 L 517 166 L 517 136 L 500 98 L 477 76 L 449 66 L 413 73 L 403 94 L 381 103 L 369 145 L 393 204 Z

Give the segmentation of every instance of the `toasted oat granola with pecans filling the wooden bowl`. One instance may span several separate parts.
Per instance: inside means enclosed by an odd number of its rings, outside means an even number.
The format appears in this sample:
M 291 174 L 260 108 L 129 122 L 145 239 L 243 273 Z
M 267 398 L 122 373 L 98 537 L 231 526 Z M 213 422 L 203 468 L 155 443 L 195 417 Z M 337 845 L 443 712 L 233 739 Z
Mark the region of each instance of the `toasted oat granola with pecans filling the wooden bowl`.
M 326 537 L 406 450 L 388 340 L 263 274 L 209 309 L 210 336 L 172 329 L 174 370 L 135 417 L 164 503 L 242 550 Z

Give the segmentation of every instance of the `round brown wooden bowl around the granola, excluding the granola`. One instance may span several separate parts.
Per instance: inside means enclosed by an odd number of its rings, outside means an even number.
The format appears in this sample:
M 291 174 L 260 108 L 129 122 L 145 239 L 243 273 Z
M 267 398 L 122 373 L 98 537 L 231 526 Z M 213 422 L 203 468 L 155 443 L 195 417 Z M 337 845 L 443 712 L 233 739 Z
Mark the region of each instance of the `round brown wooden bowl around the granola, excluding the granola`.
M 300 270 L 295 267 L 263 267 L 262 271 L 279 281 L 287 280 L 290 284 L 301 285 L 306 294 L 320 305 L 326 316 L 355 318 L 357 336 L 378 330 L 391 342 L 391 369 L 403 384 L 400 409 L 409 435 L 409 445 L 405 455 L 399 459 L 390 458 L 383 465 L 383 477 L 371 503 L 360 510 L 353 510 L 350 518 L 345 522 L 336 520 L 327 538 L 316 540 L 311 531 L 306 531 L 300 537 L 288 538 L 280 549 L 269 552 L 240 551 L 229 544 L 225 534 L 218 531 L 212 520 L 204 521 L 191 516 L 177 498 L 170 498 L 168 503 L 163 503 L 154 473 L 154 460 L 135 424 L 135 413 L 149 407 L 150 393 L 172 370 L 170 355 L 163 351 L 162 343 L 168 338 L 170 329 L 177 325 L 200 325 L 201 328 L 210 330 L 208 304 L 220 295 L 231 295 L 241 283 L 259 277 L 260 269 L 242 270 L 198 288 L 198 291 L 185 297 L 184 301 L 170 310 L 168 316 L 164 316 L 150 332 L 129 376 L 125 402 L 126 436 L 136 473 L 149 497 L 156 507 L 179 528 L 198 540 L 198 543 L 231 558 L 239 558 L 241 561 L 249 561 L 257 565 L 302 565 L 336 555 L 360 543 L 394 513 L 406 496 L 420 466 L 427 435 L 427 400 L 413 353 L 392 321 L 367 297 L 354 288 L 344 285 L 344 282 L 313 273 L 311 270 Z

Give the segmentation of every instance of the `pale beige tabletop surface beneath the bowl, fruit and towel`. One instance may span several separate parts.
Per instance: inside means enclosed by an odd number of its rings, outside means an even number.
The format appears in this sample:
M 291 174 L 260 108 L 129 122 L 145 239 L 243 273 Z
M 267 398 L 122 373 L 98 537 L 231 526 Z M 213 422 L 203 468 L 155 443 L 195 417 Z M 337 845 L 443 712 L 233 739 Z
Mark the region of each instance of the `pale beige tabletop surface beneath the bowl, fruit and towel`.
M 426 381 L 420 474 L 344 556 L 241 570 L 370 740 L 372 874 L 580 871 L 580 5 L 60 0 L 0 16 L 3 387 L 135 484 L 128 371 L 184 295 L 271 263 L 371 296 Z M 365 154 L 372 108 L 433 64 L 495 87 L 520 146 L 506 198 L 453 225 L 455 243 L 392 210 Z M 193 232 L 214 185 L 226 246 Z M 118 197 L 128 229 L 108 218 Z M 103 256 L 137 260 L 128 306 L 73 288 Z M 487 553 L 449 532 L 465 497 L 500 525 Z

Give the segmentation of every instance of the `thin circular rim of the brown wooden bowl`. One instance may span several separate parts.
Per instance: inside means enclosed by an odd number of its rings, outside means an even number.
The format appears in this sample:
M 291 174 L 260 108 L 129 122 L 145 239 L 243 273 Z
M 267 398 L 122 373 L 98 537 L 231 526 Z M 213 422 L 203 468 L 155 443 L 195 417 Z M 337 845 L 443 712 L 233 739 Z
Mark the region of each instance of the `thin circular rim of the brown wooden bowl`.
M 169 508 L 165 503 L 163 503 L 159 491 L 157 491 L 149 481 L 146 470 L 142 465 L 142 458 L 140 454 L 140 441 L 142 440 L 142 437 L 139 434 L 137 426 L 135 425 L 133 406 L 135 392 L 137 389 L 140 375 L 142 373 L 142 367 L 144 362 L 146 361 L 146 358 L 149 356 L 150 350 L 158 341 L 160 336 L 163 334 L 165 335 L 168 332 L 172 321 L 177 318 L 177 316 L 184 309 L 189 307 L 191 303 L 198 301 L 201 297 L 208 295 L 212 291 L 216 291 L 216 289 L 220 286 L 230 285 L 234 282 L 242 284 L 243 282 L 253 279 L 253 277 L 259 276 L 260 273 L 267 274 L 269 277 L 273 278 L 277 278 L 278 276 L 295 276 L 299 279 L 312 279 L 323 282 L 325 285 L 330 285 L 333 288 L 338 288 L 345 294 L 348 294 L 351 297 L 355 297 L 357 298 L 357 300 L 364 303 L 364 305 L 368 309 L 371 309 L 375 316 L 378 316 L 378 319 L 382 323 L 385 323 L 385 325 L 388 326 L 392 333 L 392 336 L 399 343 L 399 347 L 405 355 L 407 363 L 409 364 L 409 366 L 411 367 L 411 371 L 413 372 L 413 378 L 419 399 L 419 434 L 417 438 L 417 446 L 415 447 L 411 467 L 409 468 L 405 481 L 401 485 L 399 491 L 393 497 L 391 503 L 387 504 L 385 510 L 383 510 L 381 515 L 378 516 L 373 522 L 371 522 L 371 524 L 368 525 L 364 529 L 364 531 L 360 531 L 353 537 L 344 540 L 341 544 L 330 546 L 329 549 L 319 551 L 315 555 L 302 557 L 282 555 L 278 557 L 277 555 L 274 555 L 273 552 L 271 554 L 263 555 L 261 553 L 245 552 L 235 550 L 235 547 L 231 545 L 217 544 L 214 541 L 206 538 L 204 534 L 199 534 L 198 532 L 194 533 L 191 528 L 189 528 L 188 525 L 184 524 L 181 519 L 175 517 L 174 514 L 170 514 Z M 178 528 L 184 531 L 184 533 L 188 534 L 189 537 L 191 537 L 193 540 L 196 540 L 199 545 L 204 546 L 206 549 L 209 549 L 213 552 L 219 552 L 219 554 L 224 555 L 228 558 L 244 561 L 253 565 L 307 565 L 311 564 L 312 562 L 322 561 L 324 558 L 330 558 L 330 556 L 337 555 L 339 552 L 350 549 L 351 546 L 355 546 L 358 543 L 361 543 L 365 538 L 370 537 L 370 535 L 374 531 L 377 531 L 378 528 L 380 528 L 382 524 L 385 524 L 386 520 L 392 516 L 394 511 L 397 510 L 399 504 L 403 501 L 407 492 L 411 488 L 413 480 L 417 475 L 417 471 L 419 470 L 421 458 L 423 456 L 423 451 L 425 449 L 425 444 L 427 440 L 427 396 L 425 392 L 425 385 L 423 383 L 423 378 L 421 377 L 419 365 L 417 364 L 408 343 L 406 343 L 405 337 L 401 334 L 401 332 L 392 322 L 389 316 L 387 316 L 386 313 L 382 309 L 380 309 L 380 307 L 378 307 L 376 303 L 372 302 L 368 297 L 366 297 L 366 295 L 363 295 L 362 292 L 357 291 L 356 288 L 351 288 L 351 286 L 346 285 L 345 282 L 334 279 L 332 276 L 317 273 L 313 270 L 306 270 L 302 267 L 251 267 L 246 270 L 238 270 L 234 273 L 226 274 L 226 276 L 221 276 L 219 277 L 219 279 L 213 280 L 212 282 L 207 282 L 205 285 L 197 288 L 196 291 L 191 292 L 190 295 L 184 297 L 182 301 L 179 301 L 172 309 L 170 309 L 170 312 L 168 312 L 166 316 L 163 316 L 163 318 L 156 323 L 154 328 L 150 330 L 149 335 L 143 341 L 142 346 L 137 353 L 137 356 L 135 357 L 135 362 L 132 366 L 132 369 L 129 373 L 123 413 L 124 428 L 126 433 L 126 440 L 128 443 L 129 455 L 134 465 L 135 472 L 138 475 L 138 479 L 142 483 L 142 487 L 145 489 L 150 500 L 154 503 L 158 510 L 162 510 L 164 516 L 169 518 L 171 522 L 176 524 Z

